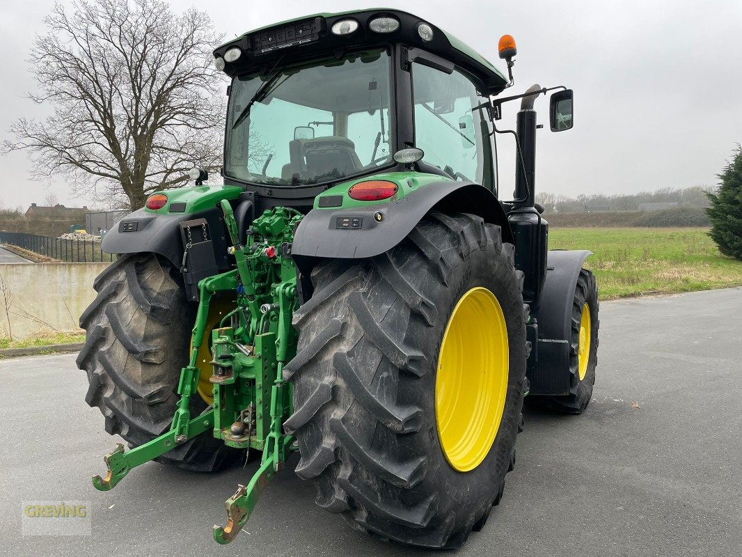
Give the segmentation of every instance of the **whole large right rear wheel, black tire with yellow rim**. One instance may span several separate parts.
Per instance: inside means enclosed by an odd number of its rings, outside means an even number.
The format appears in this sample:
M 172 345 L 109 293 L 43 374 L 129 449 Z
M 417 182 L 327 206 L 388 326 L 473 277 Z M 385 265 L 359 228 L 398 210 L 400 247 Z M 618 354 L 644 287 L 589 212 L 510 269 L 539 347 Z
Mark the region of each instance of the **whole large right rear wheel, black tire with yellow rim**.
M 387 253 L 315 269 L 285 426 L 320 506 L 423 547 L 482 527 L 515 460 L 525 382 L 513 253 L 499 227 L 433 212 Z

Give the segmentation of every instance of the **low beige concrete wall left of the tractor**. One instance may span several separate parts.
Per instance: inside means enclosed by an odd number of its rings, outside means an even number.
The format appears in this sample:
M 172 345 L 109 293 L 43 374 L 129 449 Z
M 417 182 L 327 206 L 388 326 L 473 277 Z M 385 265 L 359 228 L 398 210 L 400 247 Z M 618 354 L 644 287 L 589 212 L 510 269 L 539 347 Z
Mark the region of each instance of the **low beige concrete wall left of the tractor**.
M 0 337 L 76 330 L 95 299 L 93 281 L 108 263 L 0 265 Z M 10 319 L 10 325 L 8 320 Z

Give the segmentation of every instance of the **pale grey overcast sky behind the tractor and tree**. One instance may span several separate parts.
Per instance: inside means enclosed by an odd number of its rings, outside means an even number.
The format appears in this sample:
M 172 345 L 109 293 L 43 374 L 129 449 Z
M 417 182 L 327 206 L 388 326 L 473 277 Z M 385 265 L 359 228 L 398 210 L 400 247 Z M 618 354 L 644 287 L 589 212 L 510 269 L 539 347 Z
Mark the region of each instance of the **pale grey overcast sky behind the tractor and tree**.
M 62 0 L 62 4 L 69 2 Z M 360 1 L 174 0 L 174 10 L 207 11 L 227 38 L 283 19 L 370 7 Z M 0 8 L 0 141 L 21 116 L 45 107 L 24 95 L 35 83 L 27 51 L 53 0 L 3 1 Z M 639 192 L 665 186 L 711 185 L 742 142 L 741 0 L 393 1 L 464 40 L 502 68 L 497 40 L 518 44 L 515 87 L 533 83 L 574 89 L 575 127 L 548 131 L 548 101 L 540 120 L 536 189 L 566 195 Z M 513 123 L 517 103 L 505 105 Z M 501 139 L 500 182 L 509 192 L 513 149 Z M 63 179 L 27 179 L 27 155 L 0 155 L 4 206 L 43 203 L 50 191 L 68 206 L 99 205 L 75 198 Z

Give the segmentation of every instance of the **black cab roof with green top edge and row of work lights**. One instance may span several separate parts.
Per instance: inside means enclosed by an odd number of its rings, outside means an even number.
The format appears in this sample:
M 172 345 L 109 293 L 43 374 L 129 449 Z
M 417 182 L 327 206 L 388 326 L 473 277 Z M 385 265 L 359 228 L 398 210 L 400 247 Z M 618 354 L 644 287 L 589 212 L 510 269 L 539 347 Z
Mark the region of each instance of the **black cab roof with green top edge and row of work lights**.
M 400 23 L 392 33 L 375 33 L 368 26 L 377 17 L 390 16 Z M 354 19 L 358 29 L 348 35 L 336 36 L 331 33 L 332 25 L 343 19 Z M 433 29 L 433 39 L 423 41 L 418 35 L 418 25 L 425 23 Z M 295 33 L 305 33 L 301 40 Z M 292 38 L 287 39 L 287 36 Z M 272 44 L 271 44 L 272 43 Z M 235 46 L 244 56 L 233 64 L 227 63 L 224 71 L 231 76 L 254 71 L 261 66 L 278 63 L 290 53 L 292 58 L 315 56 L 322 51 L 335 51 L 338 48 L 357 48 L 380 43 L 401 43 L 410 47 L 430 51 L 450 60 L 459 67 L 475 74 L 485 82 L 490 94 L 499 94 L 507 85 L 508 79 L 489 60 L 460 39 L 447 33 L 426 19 L 401 10 L 373 8 L 370 10 L 351 10 L 338 13 L 315 13 L 287 19 L 266 27 L 244 33 L 226 42 L 214 51 L 214 56 Z

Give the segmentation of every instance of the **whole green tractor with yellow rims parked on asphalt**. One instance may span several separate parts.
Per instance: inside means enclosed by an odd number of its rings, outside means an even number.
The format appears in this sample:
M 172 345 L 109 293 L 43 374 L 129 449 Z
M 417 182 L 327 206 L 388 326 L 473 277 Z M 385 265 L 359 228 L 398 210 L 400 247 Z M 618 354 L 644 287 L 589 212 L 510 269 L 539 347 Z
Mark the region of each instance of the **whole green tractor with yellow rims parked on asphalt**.
M 522 405 L 591 399 L 587 251 L 548 251 L 534 203 L 539 94 L 409 13 L 323 13 L 214 51 L 232 78 L 223 186 L 151 195 L 103 249 L 77 360 L 128 442 L 97 489 L 157 460 L 211 472 L 260 457 L 226 501 L 232 541 L 286 465 L 353 527 L 460 547 L 499 503 Z M 493 99 L 494 97 L 494 99 Z M 496 128 L 521 100 L 516 131 Z M 498 134 L 516 138 L 504 201 Z

